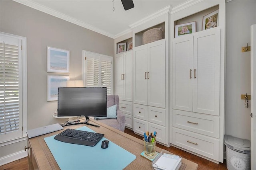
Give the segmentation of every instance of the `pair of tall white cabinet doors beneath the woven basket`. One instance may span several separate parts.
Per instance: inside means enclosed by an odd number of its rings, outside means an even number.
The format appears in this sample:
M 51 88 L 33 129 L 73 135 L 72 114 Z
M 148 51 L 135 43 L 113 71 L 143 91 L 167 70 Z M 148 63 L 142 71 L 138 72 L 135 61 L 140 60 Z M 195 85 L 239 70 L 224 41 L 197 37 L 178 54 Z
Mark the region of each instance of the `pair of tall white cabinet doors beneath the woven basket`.
M 133 50 L 133 102 L 165 108 L 165 39 Z

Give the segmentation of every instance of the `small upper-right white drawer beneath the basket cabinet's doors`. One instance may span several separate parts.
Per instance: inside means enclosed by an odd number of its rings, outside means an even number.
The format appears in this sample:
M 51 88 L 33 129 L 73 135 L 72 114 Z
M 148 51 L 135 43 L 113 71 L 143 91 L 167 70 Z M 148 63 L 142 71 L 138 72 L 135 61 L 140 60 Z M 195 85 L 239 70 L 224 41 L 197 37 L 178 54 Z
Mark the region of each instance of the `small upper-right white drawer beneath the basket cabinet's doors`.
M 166 110 L 148 106 L 148 121 L 165 126 Z

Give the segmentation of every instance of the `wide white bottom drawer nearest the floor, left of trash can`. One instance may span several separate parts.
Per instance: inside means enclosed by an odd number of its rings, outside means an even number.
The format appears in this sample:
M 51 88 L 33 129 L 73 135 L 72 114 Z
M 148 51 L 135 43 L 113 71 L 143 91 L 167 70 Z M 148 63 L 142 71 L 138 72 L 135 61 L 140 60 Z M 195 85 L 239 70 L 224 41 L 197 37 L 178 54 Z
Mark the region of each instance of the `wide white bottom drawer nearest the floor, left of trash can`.
M 172 144 L 213 160 L 219 160 L 219 140 L 190 131 L 172 128 Z

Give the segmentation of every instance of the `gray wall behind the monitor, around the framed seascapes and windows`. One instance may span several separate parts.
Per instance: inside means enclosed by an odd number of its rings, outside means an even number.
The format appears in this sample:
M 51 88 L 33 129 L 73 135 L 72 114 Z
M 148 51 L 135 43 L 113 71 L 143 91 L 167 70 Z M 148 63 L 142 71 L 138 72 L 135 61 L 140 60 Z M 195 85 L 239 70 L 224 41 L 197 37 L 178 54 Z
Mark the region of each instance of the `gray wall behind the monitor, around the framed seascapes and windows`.
M 82 80 L 82 50 L 114 56 L 114 39 L 11 0 L 0 0 L 0 31 L 27 37 L 28 129 L 66 120 L 52 117 L 57 101 L 47 102 L 47 75 L 65 75 L 46 72 L 47 46 L 70 50 L 70 79 Z M 1 147 L 0 157 L 19 146 Z

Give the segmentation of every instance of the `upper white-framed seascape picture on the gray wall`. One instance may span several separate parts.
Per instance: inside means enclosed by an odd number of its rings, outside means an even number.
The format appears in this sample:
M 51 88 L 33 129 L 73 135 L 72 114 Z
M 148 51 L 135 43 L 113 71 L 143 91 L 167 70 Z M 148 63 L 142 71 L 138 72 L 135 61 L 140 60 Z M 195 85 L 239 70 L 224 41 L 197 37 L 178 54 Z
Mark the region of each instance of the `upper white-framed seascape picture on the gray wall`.
M 47 72 L 69 73 L 69 51 L 47 46 Z

